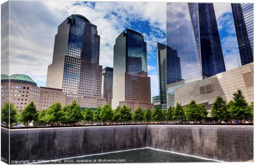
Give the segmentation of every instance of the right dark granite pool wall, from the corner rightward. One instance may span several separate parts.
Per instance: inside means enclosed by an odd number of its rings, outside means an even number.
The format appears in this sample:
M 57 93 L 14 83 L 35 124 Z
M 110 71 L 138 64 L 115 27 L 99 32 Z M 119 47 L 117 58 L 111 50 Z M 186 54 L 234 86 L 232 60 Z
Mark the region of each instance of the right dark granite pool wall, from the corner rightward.
M 148 125 L 150 148 L 222 161 L 253 159 L 252 126 Z

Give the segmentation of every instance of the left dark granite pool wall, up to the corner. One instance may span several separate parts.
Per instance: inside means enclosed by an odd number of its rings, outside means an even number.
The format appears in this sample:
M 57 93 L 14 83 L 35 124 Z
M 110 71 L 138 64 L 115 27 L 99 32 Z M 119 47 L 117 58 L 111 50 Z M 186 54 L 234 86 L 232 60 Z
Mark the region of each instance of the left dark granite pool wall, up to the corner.
M 55 160 L 144 148 L 147 125 L 11 130 L 11 160 Z

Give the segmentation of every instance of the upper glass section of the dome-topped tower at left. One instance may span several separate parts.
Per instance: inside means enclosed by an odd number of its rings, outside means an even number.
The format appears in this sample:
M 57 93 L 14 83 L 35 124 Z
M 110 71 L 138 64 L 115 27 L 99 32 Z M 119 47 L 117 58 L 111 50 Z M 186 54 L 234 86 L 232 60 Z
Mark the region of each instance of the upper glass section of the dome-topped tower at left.
M 72 14 L 59 27 L 55 36 L 52 62 L 70 56 L 99 64 L 100 36 L 97 26 L 84 16 Z

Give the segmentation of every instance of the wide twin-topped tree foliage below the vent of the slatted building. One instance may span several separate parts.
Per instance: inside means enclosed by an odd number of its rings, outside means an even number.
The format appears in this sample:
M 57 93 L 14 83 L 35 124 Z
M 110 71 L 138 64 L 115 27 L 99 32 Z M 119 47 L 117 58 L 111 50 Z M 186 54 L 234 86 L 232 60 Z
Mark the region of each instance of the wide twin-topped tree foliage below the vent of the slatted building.
M 185 117 L 187 120 L 200 121 L 207 116 L 208 112 L 203 104 L 196 104 L 194 100 L 192 100 L 189 104 L 187 104 L 187 108 L 185 109 Z

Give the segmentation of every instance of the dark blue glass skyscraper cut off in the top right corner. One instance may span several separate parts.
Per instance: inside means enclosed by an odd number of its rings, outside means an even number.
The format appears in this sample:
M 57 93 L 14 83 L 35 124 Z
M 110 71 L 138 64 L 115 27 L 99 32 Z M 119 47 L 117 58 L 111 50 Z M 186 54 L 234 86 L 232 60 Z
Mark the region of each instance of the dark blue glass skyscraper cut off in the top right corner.
M 232 3 L 237 42 L 242 65 L 253 62 L 254 4 Z

